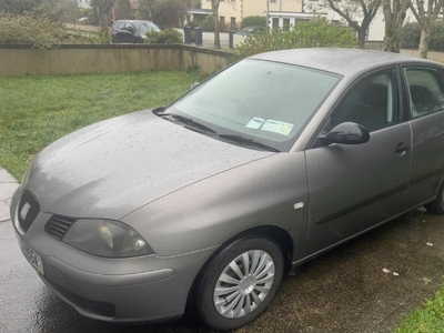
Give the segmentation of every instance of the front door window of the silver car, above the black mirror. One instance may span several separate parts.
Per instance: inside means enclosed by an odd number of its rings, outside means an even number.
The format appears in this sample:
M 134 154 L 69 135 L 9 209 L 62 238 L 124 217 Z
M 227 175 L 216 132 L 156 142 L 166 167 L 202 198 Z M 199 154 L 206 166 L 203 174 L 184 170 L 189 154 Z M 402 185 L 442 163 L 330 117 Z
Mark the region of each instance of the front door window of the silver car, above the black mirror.
M 355 122 L 369 131 L 398 122 L 395 72 L 380 73 L 363 79 L 334 110 L 332 125 Z

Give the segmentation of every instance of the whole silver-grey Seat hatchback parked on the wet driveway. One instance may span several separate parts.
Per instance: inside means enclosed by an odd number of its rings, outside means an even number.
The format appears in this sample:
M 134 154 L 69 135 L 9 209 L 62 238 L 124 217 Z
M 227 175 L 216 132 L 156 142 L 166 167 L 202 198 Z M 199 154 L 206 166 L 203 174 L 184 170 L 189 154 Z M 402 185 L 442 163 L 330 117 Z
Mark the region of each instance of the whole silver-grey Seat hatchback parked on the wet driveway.
M 81 314 L 256 319 L 285 271 L 444 213 L 444 67 L 377 51 L 248 58 L 168 108 L 41 151 L 11 202 L 24 256 Z

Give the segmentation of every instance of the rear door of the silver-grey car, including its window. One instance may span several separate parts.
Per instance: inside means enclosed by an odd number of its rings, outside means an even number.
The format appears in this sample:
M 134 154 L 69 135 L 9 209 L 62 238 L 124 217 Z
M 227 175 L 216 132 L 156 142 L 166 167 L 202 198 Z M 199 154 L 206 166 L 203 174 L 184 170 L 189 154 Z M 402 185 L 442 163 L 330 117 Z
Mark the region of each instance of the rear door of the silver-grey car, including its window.
M 431 65 L 404 65 L 402 73 L 413 137 L 407 210 L 433 199 L 444 176 L 444 81 Z

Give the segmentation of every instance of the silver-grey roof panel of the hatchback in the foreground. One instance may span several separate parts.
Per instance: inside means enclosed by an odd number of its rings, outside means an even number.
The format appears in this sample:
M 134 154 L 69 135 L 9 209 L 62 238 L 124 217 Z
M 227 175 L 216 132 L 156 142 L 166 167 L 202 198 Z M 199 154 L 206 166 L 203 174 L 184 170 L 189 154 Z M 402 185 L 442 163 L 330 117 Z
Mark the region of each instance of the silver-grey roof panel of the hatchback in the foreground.
M 421 58 L 402 56 L 393 52 L 361 50 L 361 49 L 293 49 L 272 51 L 250 57 L 276 61 L 290 64 L 297 64 L 320 69 L 344 77 L 355 75 L 372 69 L 397 63 L 433 63 L 437 62 Z M 442 65 L 442 64 L 438 64 Z

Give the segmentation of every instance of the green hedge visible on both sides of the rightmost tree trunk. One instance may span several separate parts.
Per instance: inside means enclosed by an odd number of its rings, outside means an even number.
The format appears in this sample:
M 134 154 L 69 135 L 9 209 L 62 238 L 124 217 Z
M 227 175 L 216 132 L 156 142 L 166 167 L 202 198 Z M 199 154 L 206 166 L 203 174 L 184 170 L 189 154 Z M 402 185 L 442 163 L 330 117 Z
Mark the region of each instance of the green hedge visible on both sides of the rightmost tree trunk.
M 444 22 L 435 21 L 431 28 L 428 49 L 444 51 Z M 407 23 L 403 27 L 401 34 L 401 47 L 417 49 L 421 40 L 421 27 L 417 22 Z

